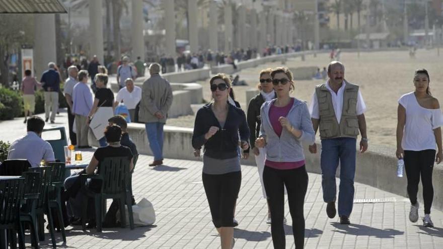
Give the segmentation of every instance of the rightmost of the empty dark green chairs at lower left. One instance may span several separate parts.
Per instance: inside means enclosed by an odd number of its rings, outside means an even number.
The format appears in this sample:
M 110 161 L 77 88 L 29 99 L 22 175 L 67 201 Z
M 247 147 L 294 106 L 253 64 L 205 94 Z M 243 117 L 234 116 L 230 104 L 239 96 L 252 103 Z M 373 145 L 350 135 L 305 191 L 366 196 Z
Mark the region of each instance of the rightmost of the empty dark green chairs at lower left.
M 66 243 L 66 234 L 64 231 L 63 212 L 61 208 L 61 191 L 63 190 L 65 163 L 64 162 L 49 162 L 49 167 L 52 167 L 51 188 L 48 191 L 49 209 L 55 209 L 57 213 L 58 228 L 61 230 L 63 242 Z

